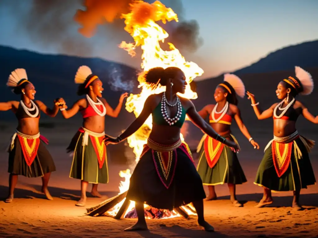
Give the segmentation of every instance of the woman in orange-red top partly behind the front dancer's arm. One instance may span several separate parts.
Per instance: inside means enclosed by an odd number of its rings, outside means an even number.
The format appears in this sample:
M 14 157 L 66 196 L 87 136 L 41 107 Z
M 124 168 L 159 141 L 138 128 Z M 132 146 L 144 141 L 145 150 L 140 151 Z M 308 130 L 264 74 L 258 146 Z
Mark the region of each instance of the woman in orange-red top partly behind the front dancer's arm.
M 214 92 L 216 104 L 205 106 L 199 115 L 204 119 L 209 116 L 211 127 L 221 136 L 236 143 L 231 134 L 231 124 L 234 118 L 243 135 L 252 144 L 254 149 L 259 149 L 245 127 L 238 108 L 236 95 L 245 96 L 245 86 L 241 79 L 233 74 L 225 74 L 224 82 L 220 83 Z M 217 199 L 215 185 L 227 183 L 230 190 L 230 200 L 235 207 L 243 207 L 236 199 L 236 184 L 247 182 L 237 154 L 229 147 L 207 136 L 202 137 L 197 153 L 200 155 L 197 171 L 204 185 L 208 185 L 209 196 L 207 201 Z

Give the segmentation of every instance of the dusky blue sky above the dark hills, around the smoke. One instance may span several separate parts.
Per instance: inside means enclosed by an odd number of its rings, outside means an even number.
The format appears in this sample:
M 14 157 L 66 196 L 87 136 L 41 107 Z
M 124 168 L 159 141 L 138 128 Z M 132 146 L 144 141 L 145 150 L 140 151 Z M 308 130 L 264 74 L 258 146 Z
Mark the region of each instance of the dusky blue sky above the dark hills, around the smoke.
M 31 0 L 20 0 L 17 2 L 20 6 L 17 7 L 15 3 L 14 8 L 13 5 L 11 8 L 6 6 L 4 2 L 7 1 L 0 0 L 0 45 L 42 53 L 100 57 L 140 68 L 140 56 L 134 59 L 118 48 L 121 40 L 132 40 L 124 29 L 101 26 L 95 36 L 85 38 L 77 32 L 79 25 L 70 20 L 77 10 L 70 6 L 65 14 L 66 21 L 72 22 L 67 28 L 69 32 L 39 38 L 33 33 L 41 30 L 37 24 L 24 26 L 25 17 L 31 16 L 19 14 L 20 11 L 27 12 Z M 194 19 L 199 25 L 203 44 L 195 52 L 180 49 L 187 61 L 197 63 L 204 70 L 198 79 L 243 68 L 285 46 L 318 39 L 317 0 L 171 1 L 180 2 L 176 12 L 180 13 L 182 19 Z M 174 3 L 171 1 L 162 0 L 173 8 Z M 43 19 L 37 21 L 45 23 Z M 52 21 L 47 24 L 52 24 Z M 63 43 L 63 47 L 55 44 L 55 41 L 66 36 L 74 44 L 69 41 Z M 77 40 L 85 42 L 85 46 L 75 44 Z

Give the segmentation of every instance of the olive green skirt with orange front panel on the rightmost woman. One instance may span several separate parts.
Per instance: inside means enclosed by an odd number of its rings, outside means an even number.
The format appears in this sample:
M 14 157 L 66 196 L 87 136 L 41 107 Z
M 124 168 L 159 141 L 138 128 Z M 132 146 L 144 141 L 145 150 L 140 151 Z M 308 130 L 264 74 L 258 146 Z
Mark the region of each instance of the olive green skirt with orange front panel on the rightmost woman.
M 308 155 L 312 146 L 301 136 L 285 144 L 272 140 L 265 148 L 254 184 L 273 191 L 295 191 L 315 184 Z

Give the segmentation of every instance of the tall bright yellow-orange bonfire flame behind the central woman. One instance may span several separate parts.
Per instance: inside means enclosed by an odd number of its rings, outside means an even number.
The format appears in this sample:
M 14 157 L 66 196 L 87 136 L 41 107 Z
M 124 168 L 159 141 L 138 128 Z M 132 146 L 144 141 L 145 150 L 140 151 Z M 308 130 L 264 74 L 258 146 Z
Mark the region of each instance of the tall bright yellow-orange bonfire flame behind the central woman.
M 174 13 L 171 8 L 167 8 L 159 1 L 156 1 L 152 4 L 145 3 L 143 1 L 135 1 L 134 3 L 130 4 L 130 10 L 130 13 L 122 14 L 121 17 L 125 19 L 125 30 L 134 38 L 135 43 L 122 42 L 119 47 L 128 51 L 128 54 L 131 56 L 135 56 L 135 49 L 139 46 L 141 47 L 143 50 L 141 64 L 143 72 L 138 76 L 138 87 L 142 88 L 142 91 L 138 95 L 130 94 L 126 102 L 126 110 L 128 112 L 133 112 L 135 116 L 138 117 L 148 96 L 165 91 L 165 87 L 163 86 L 152 89 L 145 84 L 145 73 L 154 67 L 178 67 L 182 69 L 188 84 L 186 85 L 185 93 L 179 94 L 179 96 L 188 99 L 196 99 L 197 93 L 191 90 L 190 82 L 195 77 L 201 76 L 204 73 L 203 69 L 201 69 L 196 63 L 186 62 L 179 50 L 176 49 L 173 44 L 168 43 L 170 49 L 169 51 L 162 50 L 159 44 L 159 42 L 164 43 L 164 39 L 166 39 L 169 34 L 156 22 L 161 20 L 162 23 L 165 24 L 167 21 L 178 21 L 176 13 Z M 151 132 L 151 129 L 152 116 L 150 115 L 142 127 L 138 129 L 135 134 L 127 138 L 129 147 L 133 148 L 133 151 L 136 155 L 136 163 L 139 161 L 143 150 L 143 145 L 147 143 L 147 138 Z M 181 140 L 184 141 L 183 135 L 181 133 L 180 137 Z M 119 175 L 124 178 L 124 181 L 122 181 L 119 186 L 119 194 L 121 194 L 127 191 L 129 188 L 129 179 L 131 176 L 130 170 L 127 169 L 125 171 L 120 171 Z M 124 200 L 108 211 L 108 215 L 116 215 L 123 202 Z M 131 202 L 126 214 L 134 207 L 135 202 Z M 149 206 L 145 204 L 145 208 L 148 209 Z M 189 215 L 196 215 L 186 207 L 183 207 L 183 209 Z M 176 216 L 180 216 L 180 214 L 176 211 L 172 211 L 168 217 L 170 218 Z

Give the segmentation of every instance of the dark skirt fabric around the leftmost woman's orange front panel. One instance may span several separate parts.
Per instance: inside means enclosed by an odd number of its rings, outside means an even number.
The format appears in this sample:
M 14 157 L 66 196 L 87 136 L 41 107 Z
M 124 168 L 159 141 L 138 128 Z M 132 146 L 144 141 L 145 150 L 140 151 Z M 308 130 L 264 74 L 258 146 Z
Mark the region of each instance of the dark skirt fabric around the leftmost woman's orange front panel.
M 14 139 L 13 148 L 9 149 L 9 166 L 8 172 L 15 175 L 23 175 L 29 178 L 43 176 L 46 173 L 54 172 L 56 170 L 53 158 L 49 151 L 45 148 L 44 143 L 40 140 L 34 160 L 28 165 L 27 159 L 24 157 L 24 151 L 19 141 L 18 136 Z M 31 144 L 32 147 L 32 144 Z

